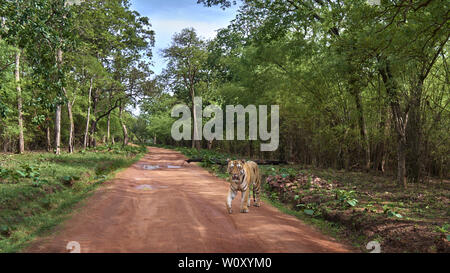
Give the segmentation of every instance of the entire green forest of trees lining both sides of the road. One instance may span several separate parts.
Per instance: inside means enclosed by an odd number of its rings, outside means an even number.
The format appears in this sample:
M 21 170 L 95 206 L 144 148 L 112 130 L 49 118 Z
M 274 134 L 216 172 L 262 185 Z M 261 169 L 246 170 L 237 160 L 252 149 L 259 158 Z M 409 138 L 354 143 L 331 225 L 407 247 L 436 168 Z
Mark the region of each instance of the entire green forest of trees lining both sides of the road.
M 448 222 L 449 1 L 190 1 L 238 10 L 215 38 L 186 26 L 156 52 L 152 19 L 129 0 L 0 0 L 3 155 L 134 143 L 379 175 L 400 192 L 438 180 Z M 175 141 L 171 111 L 195 97 L 279 105 L 278 150 Z

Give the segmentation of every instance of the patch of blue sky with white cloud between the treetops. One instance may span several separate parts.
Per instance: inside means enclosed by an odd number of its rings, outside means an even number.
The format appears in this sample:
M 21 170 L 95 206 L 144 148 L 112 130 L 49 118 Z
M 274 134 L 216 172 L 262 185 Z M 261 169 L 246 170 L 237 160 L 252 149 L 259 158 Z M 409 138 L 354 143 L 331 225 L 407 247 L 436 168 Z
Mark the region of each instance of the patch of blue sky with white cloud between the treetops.
M 228 26 L 234 19 L 237 7 L 222 10 L 204 7 L 197 0 L 132 0 L 132 9 L 150 18 L 155 31 L 153 52 L 154 72 L 165 67 L 160 51 L 170 45 L 172 36 L 183 28 L 193 27 L 200 37 L 211 39 L 216 30 Z

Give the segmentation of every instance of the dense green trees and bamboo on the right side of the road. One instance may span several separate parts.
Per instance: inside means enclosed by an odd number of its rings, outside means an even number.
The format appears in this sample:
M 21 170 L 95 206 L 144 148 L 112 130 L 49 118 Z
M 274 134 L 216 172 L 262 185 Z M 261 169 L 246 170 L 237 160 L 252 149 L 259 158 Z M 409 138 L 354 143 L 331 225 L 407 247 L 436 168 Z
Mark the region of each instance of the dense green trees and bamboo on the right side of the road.
M 192 107 L 194 96 L 223 109 L 280 105 L 277 152 L 259 152 L 259 141 L 192 145 L 387 172 L 402 187 L 407 179 L 448 177 L 448 1 L 239 3 L 236 19 L 214 40 L 203 41 L 189 28 L 173 37 L 164 50 L 167 69 L 158 77 L 167 92 L 144 102 L 136 129 L 142 138 L 175 144 L 170 109 Z

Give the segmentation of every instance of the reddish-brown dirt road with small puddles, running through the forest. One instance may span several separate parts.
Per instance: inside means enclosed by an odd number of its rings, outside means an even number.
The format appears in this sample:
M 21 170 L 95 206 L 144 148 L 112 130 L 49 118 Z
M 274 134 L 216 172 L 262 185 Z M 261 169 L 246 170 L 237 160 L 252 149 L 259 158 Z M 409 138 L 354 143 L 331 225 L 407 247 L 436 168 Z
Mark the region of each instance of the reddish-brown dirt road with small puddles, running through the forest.
M 184 163 L 178 152 L 149 150 L 99 188 L 53 235 L 37 239 L 24 252 L 68 252 L 71 241 L 79 242 L 82 253 L 352 251 L 267 203 L 239 213 L 240 194 L 229 215 L 226 181 Z

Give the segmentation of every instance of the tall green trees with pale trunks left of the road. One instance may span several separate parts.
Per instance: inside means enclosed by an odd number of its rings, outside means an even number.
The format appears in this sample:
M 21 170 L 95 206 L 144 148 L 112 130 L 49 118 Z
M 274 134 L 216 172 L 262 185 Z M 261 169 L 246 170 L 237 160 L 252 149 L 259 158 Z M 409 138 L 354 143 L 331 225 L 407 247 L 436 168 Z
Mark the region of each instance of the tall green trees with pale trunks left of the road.
M 3 152 L 128 143 L 153 89 L 148 18 L 122 0 L 0 1 L 0 18 Z

